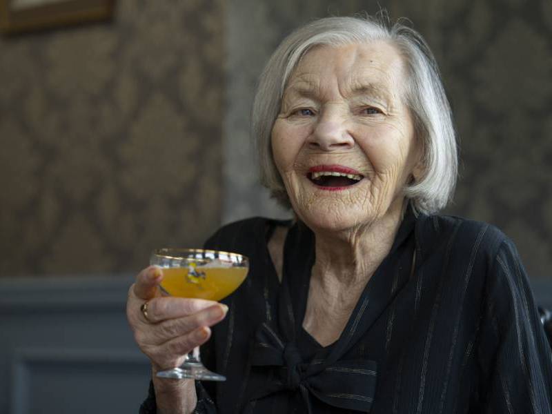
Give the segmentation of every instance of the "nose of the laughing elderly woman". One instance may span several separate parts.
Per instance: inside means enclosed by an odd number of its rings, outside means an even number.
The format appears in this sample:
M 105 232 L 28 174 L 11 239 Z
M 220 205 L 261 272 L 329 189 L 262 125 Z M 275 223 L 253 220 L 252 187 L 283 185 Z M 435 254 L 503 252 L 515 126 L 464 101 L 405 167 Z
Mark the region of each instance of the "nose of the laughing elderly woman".
M 308 146 L 324 151 L 353 148 L 355 140 L 351 136 L 347 124 L 346 119 L 338 114 L 322 115 L 308 138 Z

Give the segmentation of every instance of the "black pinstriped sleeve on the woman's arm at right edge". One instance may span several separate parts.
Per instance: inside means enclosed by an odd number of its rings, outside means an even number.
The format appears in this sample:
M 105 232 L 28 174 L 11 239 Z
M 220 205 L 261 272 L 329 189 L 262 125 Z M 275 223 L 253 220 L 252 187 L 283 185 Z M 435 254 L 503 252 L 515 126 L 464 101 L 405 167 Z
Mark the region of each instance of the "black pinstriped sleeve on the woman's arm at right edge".
M 517 250 L 502 242 L 487 275 L 479 362 L 484 413 L 551 414 L 552 352 Z

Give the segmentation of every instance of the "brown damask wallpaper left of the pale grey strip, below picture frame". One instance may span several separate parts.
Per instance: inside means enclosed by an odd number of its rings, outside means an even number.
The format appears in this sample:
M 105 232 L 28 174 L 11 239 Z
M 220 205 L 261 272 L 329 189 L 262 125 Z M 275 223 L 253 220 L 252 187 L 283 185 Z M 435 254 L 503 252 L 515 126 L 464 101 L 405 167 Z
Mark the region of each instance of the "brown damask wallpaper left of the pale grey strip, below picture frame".
M 0 275 L 146 266 L 219 225 L 221 0 L 0 39 Z

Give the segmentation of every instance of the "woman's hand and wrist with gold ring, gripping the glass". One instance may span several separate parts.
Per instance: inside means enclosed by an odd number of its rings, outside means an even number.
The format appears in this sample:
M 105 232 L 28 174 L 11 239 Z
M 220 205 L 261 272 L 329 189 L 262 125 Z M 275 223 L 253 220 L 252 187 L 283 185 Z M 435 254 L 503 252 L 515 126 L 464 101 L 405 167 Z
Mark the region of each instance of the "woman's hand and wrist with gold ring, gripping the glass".
M 164 380 L 155 373 L 181 365 L 188 352 L 209 339 L 209 327 L 224 319 L 228 307 L 210 300 L 163 296 L 162 279 L 161 268 L 142 270 L 128 290 L 126 315 L 136 343 L 151 361 L 158 408 L 186 413 L 195 407 L 193 380 Z M 146 313 L 141 311 L 144 304 Z

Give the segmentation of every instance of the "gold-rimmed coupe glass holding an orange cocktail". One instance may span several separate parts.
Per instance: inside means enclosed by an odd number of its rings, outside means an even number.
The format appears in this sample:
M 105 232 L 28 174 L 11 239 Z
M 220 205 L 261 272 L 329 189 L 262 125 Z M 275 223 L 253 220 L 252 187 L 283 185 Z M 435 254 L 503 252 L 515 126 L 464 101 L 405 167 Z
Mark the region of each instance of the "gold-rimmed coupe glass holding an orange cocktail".
M 161 290 L 168 295 L 215 301 L 233 293 L 244 282 L 249 269 L 248 258 L 243 255 L 190 248 L 154 250 L 150 264 L 162 268 Z M 178 368 L 159 371 L 157 377 L 226 380 L 224 375 L 213 373 L 201 364 L 199 347 L 186 355 L 184 364 Z

